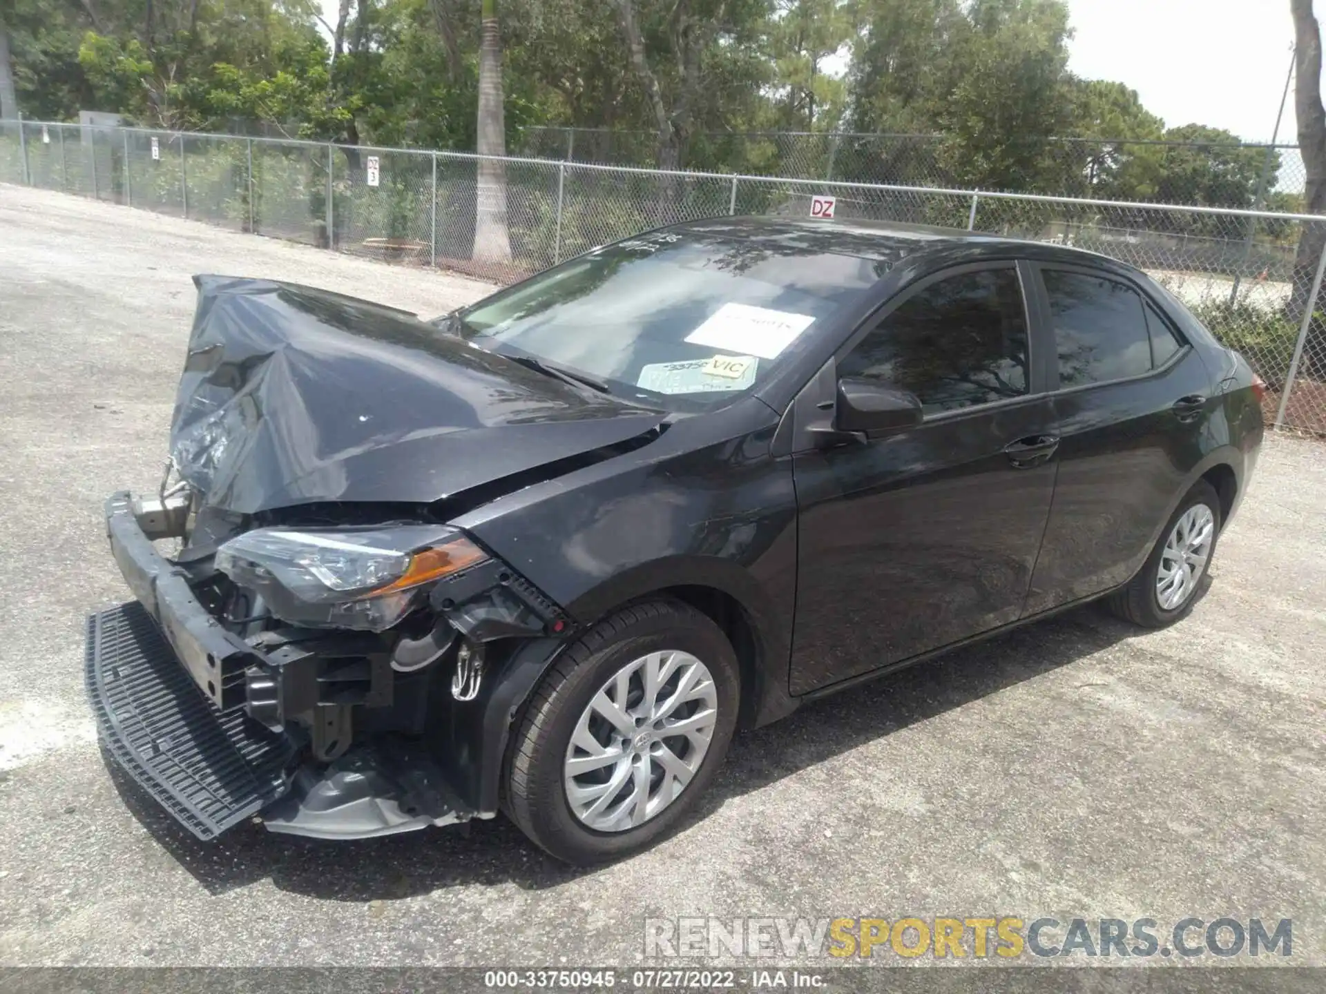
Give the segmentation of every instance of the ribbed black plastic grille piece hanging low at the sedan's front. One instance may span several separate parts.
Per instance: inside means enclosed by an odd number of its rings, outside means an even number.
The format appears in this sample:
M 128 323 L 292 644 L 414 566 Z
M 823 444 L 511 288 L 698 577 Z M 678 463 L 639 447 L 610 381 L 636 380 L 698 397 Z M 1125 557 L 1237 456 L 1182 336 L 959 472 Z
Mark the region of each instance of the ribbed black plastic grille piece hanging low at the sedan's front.
M 89 615 L 85 677 L 110 754 L 199 839 L 286 793 L 290 740 L 216 710 L 138 602 Z

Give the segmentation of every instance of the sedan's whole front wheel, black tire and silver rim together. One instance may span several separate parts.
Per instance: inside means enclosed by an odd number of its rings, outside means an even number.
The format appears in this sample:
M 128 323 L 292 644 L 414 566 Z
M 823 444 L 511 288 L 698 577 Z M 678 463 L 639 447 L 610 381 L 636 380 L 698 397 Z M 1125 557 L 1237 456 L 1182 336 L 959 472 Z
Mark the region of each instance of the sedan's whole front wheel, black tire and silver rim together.
M 671 600 L 623 608 L 534 692 L 512 742 L 507 812 L 569 863 L 636 852 L 709 786 L 739 700 L 736 655 L 708 616 Z

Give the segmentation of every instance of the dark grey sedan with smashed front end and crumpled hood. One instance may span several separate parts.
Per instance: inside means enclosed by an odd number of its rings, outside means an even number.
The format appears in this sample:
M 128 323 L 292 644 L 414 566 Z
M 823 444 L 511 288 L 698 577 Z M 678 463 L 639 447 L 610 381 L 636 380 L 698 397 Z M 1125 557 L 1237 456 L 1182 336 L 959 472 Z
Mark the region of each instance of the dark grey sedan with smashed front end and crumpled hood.
M 86 676 L 204 839 L 636 851 L 739 726 L 1094 598 L 1183 618 L 1262 436 L 1144 273 L 965 232 L 692 223 L 431 322 L 196 282 Z

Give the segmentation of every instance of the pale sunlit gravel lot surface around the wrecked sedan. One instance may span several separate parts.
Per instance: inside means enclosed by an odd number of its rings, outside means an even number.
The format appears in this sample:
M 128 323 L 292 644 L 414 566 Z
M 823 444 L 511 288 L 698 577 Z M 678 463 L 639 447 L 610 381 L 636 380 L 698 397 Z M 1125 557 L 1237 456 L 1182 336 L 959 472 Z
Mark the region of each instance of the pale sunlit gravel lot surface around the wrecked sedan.
M 1183 624 L 1083 608 L 743 734 L 633 860 L 569 869 L 501 819 L 195 843 L 107 770 L 81 685 L 84 618 L 125 598 L 101 502 L 156 482 L 195 272 L 483 292 L 0 186 L 0 964 L 630 964 L 690 914 L 1292 917 L 1274 961 L 1326 964 L 1326 449 L 1290 439 Z

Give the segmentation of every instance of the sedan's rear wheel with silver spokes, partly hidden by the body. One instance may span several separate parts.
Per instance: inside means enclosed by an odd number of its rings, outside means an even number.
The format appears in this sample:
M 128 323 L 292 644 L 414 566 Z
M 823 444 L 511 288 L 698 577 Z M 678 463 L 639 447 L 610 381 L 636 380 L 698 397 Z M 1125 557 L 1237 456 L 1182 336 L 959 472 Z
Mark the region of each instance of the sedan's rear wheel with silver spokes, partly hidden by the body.
M 1110 608 L 1143 628 L 1164 628 L 1192 610 L 1220 537 L 1220 497 L 1205 480 L 1179 502 L 1138 575 Z

